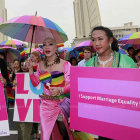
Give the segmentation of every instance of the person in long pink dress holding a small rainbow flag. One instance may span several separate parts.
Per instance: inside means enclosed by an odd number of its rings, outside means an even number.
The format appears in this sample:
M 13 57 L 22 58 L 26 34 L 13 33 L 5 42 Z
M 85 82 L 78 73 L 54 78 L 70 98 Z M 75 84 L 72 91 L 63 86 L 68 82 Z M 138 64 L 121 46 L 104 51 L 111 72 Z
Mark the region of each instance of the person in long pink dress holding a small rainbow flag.
M 67 123 L 70 113 L 70 63 L 59 58 L 56 41 L 46 38 L 43 42 L 45 58 L 33 72 L 28 61 L 30 79 L 34 87 L 44 85 L 40 93 L 41 139 L 73 140 Z M 59 119 L 58 119 L 59 118 Z

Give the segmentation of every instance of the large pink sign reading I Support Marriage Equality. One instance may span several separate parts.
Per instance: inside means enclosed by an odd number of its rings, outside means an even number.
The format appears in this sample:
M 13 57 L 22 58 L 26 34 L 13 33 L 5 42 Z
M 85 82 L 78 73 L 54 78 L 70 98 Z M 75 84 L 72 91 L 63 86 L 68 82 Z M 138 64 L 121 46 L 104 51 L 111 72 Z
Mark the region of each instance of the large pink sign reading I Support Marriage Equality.
M 71 128 L 140 140 L 140 70 L 71 67 Z

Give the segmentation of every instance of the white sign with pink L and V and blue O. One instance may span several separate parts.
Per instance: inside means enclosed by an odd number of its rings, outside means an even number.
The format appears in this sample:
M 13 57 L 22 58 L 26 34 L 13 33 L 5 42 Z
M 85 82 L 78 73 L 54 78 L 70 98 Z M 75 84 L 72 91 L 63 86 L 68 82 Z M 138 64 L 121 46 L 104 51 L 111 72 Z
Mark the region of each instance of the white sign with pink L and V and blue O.
M 40 99 L 38 95 L 43 93 L 43 85 L 33 87 L 29 73 L 18 73 L 16 80 L 14 121 L 40 122 Z

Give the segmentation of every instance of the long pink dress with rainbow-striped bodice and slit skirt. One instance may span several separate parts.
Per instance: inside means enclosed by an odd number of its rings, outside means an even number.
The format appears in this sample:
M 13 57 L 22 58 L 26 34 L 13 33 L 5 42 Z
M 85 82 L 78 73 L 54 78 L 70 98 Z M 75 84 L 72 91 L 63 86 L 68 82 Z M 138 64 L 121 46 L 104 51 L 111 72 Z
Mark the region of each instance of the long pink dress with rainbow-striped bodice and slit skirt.
M 44 89 L 43 95 L 41 95 L 40 104 L 40 123 L 41 123 L 41 140 L 49 140 L 52 134 L 52 139 L 61 140 L 56 120 L 59 114 L 63 117 L 63 122 L 67 129 L 69 139 L 73 140 L 73 136 L 70 132 L 67 124 L 69 117 L 69 99 L 66 94 L 70 92 L 70 63 L 65 62 L 63 65 L 63 72 L 54 71 L 51 73 L 40 71 L 40 64 L 37 68 L 36 74 L 30 74 L 30 79 L 34 87 L 38 86 L 40 82 L 43 82 Z M 50 96 L 49 86 L 46 83 L 50 83 L 50 86 L 64 87 L 64 95 Z

